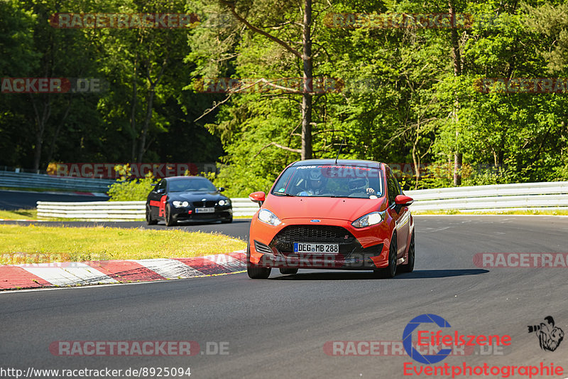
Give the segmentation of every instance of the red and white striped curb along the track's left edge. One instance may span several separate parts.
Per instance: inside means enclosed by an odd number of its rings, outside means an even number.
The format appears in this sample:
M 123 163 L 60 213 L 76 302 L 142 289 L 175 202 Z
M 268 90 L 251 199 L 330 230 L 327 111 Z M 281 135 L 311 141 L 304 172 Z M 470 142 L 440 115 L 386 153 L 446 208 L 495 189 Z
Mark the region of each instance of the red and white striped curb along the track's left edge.
M 186 279 L 245 269 L 244 250 L 192 258 L 0 265 L 0 290 Z

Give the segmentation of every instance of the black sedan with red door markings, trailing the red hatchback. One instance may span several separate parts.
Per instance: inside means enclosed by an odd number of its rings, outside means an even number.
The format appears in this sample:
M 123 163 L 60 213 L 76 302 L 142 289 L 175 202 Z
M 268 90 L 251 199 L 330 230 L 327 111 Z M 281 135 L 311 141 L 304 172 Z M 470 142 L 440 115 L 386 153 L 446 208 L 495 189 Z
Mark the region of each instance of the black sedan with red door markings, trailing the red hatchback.
M 163 178 L 148 194 L 146 223 L 154 225 L 164 220 L 173 226 L 178 221 L 209 223 L 233 221 L 231 201 L 207 178 L 202 176 L 173 176 Z

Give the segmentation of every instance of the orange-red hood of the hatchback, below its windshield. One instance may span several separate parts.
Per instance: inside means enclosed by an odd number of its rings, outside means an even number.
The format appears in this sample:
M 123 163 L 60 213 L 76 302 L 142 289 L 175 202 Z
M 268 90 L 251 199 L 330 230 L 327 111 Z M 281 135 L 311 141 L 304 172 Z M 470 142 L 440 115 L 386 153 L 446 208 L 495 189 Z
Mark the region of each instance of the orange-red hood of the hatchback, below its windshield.
M 386 208 L 385 198 L 316 198 L 267 196 L 263 208 L 280 220 L 287 218 L 331 218 L 354 221 L 362 215 Z

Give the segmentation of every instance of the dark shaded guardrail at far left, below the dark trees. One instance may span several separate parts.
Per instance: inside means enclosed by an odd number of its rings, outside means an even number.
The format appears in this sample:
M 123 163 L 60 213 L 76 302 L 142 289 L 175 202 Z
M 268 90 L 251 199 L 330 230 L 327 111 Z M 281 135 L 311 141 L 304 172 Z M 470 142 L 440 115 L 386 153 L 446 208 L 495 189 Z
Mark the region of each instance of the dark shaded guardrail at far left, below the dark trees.
M 69 178 L 47 174 L 0 171 L 0 187 L 45 188 L 65 191 L 106 193 L 112 179 Z

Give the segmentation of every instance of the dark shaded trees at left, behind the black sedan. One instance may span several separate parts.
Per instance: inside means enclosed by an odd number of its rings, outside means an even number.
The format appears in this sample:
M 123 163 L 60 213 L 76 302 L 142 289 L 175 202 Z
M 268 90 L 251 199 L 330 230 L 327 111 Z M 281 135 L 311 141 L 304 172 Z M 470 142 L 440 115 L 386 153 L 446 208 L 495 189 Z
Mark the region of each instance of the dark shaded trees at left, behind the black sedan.
M 219 139 L 195 122 L 210 97 L 183 90 L 187 29 L 53 28 L 56 12 L 184 13 L 184 1 L 0 1 L 2 78 L 100 78 L 99 93 L 0 95 L 0 166 L 211 162 Z

